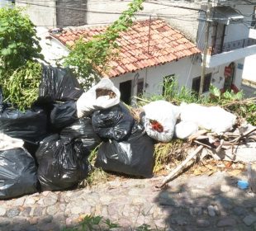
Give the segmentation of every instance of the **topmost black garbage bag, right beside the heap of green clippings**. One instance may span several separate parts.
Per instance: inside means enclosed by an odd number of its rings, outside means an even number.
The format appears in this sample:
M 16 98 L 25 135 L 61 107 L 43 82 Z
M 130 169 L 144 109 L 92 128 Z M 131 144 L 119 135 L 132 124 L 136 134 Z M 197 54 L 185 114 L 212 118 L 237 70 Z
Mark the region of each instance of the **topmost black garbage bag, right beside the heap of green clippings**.
M 68 101 L 78 99 L 83 88 L 69 68 L 44 66 L 38 101 Z

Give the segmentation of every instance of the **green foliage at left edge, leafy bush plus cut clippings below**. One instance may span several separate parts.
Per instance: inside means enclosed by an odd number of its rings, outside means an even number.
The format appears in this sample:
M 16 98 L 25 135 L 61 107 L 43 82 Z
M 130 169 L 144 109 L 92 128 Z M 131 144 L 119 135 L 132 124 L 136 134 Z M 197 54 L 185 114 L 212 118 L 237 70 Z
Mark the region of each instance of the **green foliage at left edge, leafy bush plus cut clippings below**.
M 38 96 L 42 59 L 34 24 L 21 8 L 0 8 L 0 85 L 5 101 L 24 111 Z

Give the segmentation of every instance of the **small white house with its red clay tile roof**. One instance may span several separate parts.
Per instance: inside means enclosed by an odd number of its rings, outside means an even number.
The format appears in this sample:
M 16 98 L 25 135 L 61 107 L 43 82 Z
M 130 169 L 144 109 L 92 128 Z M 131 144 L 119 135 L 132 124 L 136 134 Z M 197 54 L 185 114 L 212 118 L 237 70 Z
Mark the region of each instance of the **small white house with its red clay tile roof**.
M 73 27 L 50 36 L 66 49 L 81 36 L 87 41 L 106 28 Z M 159 18 L 135 21 L 128 31 L 121 32 L 117 43 L 119 56 L 107 64 L 107 72 L 102 76 L 111 78 L 123 101 L 129 102 L 141 93 L 162 94 L 163 83 L 173 78 L 179 86 L 192 87 L 192 79 L 200 77 L 200 50 L 168 21 Z

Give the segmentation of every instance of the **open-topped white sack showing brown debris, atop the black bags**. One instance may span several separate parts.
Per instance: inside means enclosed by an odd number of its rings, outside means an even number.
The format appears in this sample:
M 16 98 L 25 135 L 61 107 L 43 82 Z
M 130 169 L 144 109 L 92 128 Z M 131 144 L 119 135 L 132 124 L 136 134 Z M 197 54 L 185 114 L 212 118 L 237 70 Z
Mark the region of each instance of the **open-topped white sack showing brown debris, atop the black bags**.
M 102 96 L 96 98 L 96 89 L 102 88 L 111 90 L 116 94 L 115 98 L 110 98 L 109 96 Z M 81 118 L 86 115 L 90 115 L 92 111 L 98 109 L 106 109 L 111 106 L 115 106 L 120 102 L 120 92 L 114 86 L 113 82 L 109 78 L 102 78 L 95 86 L 90 88 L 88 92 L 84 92 L 77 101 L 77 111 L 78 118 Z

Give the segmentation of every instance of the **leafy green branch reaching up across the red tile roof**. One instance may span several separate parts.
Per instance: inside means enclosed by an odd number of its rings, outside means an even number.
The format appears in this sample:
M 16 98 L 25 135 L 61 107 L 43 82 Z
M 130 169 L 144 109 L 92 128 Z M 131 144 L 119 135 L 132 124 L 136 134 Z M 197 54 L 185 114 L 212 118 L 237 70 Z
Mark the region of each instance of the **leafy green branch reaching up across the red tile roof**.
M 99 74 L 107 71 L 108 61 L 117 54 L 116 39 L 120 37 L 121 31 L 127 31 L 132 25 L 135 12 L 142 9 L 143 2 L 144 0 L 133 0 L 129 3 L 129 8 L 122 12 L 118 20 L 108 26 L 104 33 L 94 36 L 86 43 L 81 37 L 71 48 L 64 64 L 73 67 L 74 73 L 83 78 L 85 89 L 92 87 Z

